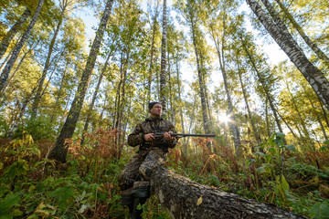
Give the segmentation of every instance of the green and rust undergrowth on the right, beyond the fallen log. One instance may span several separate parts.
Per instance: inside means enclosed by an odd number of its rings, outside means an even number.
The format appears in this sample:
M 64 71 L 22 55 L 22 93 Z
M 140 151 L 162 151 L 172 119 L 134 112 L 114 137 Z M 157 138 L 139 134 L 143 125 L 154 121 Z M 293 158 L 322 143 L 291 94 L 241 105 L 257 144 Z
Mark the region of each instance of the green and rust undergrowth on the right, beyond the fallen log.
M 228 193 L 275 203 L 311 218 L 327 218 L 328 151 L 300 152 L 284 145 L 283 138 L 281 133 L 272 135 L 268 141 L 253 145 L 243 159 L 216 141 L 210 150 L 206 140 L 198 139 L 193 142 L 203 152 L 186 157 L 181 151 L 175 171 Z

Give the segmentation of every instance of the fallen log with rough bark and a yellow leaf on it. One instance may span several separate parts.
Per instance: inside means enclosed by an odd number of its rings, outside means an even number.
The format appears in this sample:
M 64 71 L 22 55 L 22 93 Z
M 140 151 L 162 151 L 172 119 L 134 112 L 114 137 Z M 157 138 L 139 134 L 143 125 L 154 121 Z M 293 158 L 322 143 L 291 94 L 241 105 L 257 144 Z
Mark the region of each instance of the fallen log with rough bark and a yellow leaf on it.
M 151 174 L 151 193 L 171 218 L 305 218 L 274 204 L 257 203 L 234 193 L 196 183 L 158 167 Z

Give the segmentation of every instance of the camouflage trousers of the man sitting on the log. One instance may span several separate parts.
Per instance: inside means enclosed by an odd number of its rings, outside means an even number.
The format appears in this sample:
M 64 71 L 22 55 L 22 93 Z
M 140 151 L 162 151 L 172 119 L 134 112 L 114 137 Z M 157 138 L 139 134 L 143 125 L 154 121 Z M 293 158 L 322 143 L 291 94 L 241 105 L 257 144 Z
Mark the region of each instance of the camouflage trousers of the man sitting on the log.
M 118 183 L 121 190 L 132 188 L 136 181 L 149 181 L 151 172 L 165 161 L 166 152 L 161 149 L 134 155 L 119 175 Z

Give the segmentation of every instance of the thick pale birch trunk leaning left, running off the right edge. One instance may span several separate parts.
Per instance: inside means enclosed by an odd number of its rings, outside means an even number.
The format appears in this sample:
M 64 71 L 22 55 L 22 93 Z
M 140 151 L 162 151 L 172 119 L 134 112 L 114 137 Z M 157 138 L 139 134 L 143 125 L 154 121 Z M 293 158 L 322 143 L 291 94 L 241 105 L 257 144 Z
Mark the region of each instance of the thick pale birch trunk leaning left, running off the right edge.
M 246 0 L 251 10 L 260 19 L 260 22 L 273 39 L 278 43 L 281 49 L 291 59 L 292 63 L 302 72 L 302 75 L 310 83 L 316 95 L 324 102 L 325 107 L 329 110 L 329 81 L 324 77 L 324 73 L 314 67 L 310 60 L 302 53 L 300 47 L 296 47 L 296 43 L 290 34 L 282 31 L 271 17 L 260 7 L 255 0 Z

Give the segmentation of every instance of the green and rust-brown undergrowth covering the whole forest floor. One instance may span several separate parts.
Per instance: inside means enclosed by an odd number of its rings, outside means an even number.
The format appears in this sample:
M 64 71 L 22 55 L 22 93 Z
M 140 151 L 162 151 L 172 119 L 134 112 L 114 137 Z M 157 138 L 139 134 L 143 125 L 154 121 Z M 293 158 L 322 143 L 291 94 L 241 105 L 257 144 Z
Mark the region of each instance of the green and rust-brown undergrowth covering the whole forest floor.
M 64 164 L 47 159 L 53 141 L 35 142 L 31 136 L 0 139 L 0 219 L 129 218 L 117 179 L 135 150 L 118 148 L 106 136 L 93 135 L 84 146 L 70 142 Z M 239 159 L 216 141 L 211 151 L 205 139 L 193 141 L 198 153 L 187 156 L 179 143 L 165 166 L 224 192 L 274 203 L 310 218 L 329 218 L 328 145 L 297 151 L 282 145 L 281 137 L 273 135 L 254 148 L 245 145 Z M 170 218 L 154 196 L 140 207 L 143 218 Z

